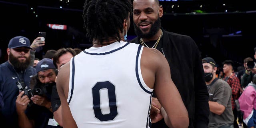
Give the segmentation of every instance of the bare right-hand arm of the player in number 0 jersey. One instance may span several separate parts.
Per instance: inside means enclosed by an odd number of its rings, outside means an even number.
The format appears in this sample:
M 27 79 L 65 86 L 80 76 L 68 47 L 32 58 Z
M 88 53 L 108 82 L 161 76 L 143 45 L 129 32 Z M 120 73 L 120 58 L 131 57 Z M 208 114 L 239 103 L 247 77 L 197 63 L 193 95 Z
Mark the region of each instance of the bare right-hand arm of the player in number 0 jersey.
M 164 120 L 170 128 L 188 128 L 188 112 L 178 89 L 172 82 L 169 64 L 161 52 L 153 51 L 150 54 L 150 62 L 153 66 L 150 68 L 155 70 L 154 91 L 164 108 L 161 109 Z M 147 56 L 145 53 L 146 50 L 142 52 L 142 56 Z

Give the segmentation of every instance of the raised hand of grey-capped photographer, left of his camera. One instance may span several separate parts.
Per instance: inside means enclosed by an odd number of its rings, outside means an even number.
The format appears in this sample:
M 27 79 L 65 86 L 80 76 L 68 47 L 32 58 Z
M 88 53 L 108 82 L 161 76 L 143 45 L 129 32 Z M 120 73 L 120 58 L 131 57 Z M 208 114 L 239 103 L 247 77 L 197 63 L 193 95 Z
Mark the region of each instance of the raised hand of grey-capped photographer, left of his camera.
M 20 92 L 20 94 L 17 96 L 17 99 L 16 99 L 16 111 L 18 114 L 25 112 L 25 110 L 27 109 L 28 103 L 30 102 L 27 95 L 22 96 L 24 93 L 25 93 L 24 91 Z

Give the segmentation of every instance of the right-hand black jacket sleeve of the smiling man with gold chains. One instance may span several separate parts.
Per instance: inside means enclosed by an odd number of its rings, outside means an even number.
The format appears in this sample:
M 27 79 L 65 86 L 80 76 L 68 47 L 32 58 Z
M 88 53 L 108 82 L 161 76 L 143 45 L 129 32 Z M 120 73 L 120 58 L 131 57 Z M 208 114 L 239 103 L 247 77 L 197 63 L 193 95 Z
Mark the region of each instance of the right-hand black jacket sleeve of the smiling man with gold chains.
M 192 40 L 192 38 L 191 38 Z M 195 126 L 196 128 L 207 128 L 209 123 L 209 93 L 204 80 L 202 59 L 198 47 L 192 40 L 192 54 L 194 58 L 194 90 L 195 90 Z

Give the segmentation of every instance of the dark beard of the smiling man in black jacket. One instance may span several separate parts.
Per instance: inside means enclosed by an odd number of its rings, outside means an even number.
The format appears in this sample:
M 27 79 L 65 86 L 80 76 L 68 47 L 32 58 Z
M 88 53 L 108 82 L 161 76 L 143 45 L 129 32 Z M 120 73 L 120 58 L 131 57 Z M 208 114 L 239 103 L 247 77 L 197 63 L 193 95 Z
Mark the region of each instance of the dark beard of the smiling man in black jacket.
M 158 16 L 158 19 L 152 24 L 150 31 L 148 33 L 143 33 L 142 30 L 140 30 L 140 28 L 136 26 L 134 22 L 133 22 L 133 26 L 134 26 L 134 32 L 139 38 L 151 38 L 160 29 L 161 20 L 160 20 L 160 17 Z

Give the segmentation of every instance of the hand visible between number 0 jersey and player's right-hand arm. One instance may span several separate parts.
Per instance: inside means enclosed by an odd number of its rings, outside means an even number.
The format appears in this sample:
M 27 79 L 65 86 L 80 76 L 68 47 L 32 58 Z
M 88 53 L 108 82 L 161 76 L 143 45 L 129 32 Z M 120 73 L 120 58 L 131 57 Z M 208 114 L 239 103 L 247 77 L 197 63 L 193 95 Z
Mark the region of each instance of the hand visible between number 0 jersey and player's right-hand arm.
M 150 118 L 152 123 L 156 123 L 162 120 L 163 116 L 160 111 L 161 108 L 162 108 L 162 105 L 160 104 L 158 99 L 152 97 L 151 109 L 150 109 Z

